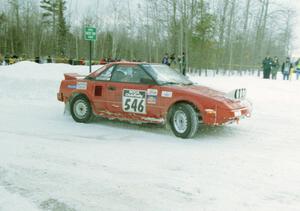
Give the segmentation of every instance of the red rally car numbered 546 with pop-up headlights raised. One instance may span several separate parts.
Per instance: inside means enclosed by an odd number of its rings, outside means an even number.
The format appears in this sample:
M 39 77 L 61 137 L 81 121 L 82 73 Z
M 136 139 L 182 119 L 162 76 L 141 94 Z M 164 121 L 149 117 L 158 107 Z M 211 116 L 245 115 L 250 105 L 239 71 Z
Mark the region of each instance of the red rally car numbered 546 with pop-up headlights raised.
M 199 124 L 223 125 L 250 117 L 246 90 L 229 94 L 193 84 L 166 65 L 117 62 L 87 76 L 65 74 L 57 98 L 76 122 L 94 116 L 139 123 L 169 123 L 191 138 Z

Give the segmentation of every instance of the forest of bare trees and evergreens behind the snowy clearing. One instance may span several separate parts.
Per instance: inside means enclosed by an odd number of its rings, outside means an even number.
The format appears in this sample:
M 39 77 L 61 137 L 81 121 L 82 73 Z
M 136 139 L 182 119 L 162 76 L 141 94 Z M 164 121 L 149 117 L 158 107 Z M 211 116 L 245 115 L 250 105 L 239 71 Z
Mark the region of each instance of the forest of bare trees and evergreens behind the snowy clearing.
M 85 2 L 85 3 L 84 3 Z M 84 28 L 95 26 L 93 59 L 161 62 L 186 54 L 200 69 L 248 69 L 265 56 L 291 56 L 294 1 L 0 0 L 0 54 L 87 58 Z

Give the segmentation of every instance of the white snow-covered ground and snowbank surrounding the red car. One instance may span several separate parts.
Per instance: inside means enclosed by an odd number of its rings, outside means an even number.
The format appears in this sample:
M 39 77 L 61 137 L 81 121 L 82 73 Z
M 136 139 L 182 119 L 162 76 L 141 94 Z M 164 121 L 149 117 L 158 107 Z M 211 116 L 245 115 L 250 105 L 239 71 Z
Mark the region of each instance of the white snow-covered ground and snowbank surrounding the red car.
M 88 67 L 0 66 L 1 211 L 300 209 L 300 81 L 191 77 L 246 87 L 254 113 L 182 140 L 157 126 L 75 123 L 56 100 L 64 72 Z

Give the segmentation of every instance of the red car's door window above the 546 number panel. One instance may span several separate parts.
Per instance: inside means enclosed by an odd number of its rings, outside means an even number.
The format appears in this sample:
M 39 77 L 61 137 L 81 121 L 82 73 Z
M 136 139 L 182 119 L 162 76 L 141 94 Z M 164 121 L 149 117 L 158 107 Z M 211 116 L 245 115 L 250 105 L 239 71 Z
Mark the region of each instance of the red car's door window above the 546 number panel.
M 119 65 L 113 72 L 111 81 L 125 83 L 141 83 L 142 79 L 152 80 L 139 66 Z

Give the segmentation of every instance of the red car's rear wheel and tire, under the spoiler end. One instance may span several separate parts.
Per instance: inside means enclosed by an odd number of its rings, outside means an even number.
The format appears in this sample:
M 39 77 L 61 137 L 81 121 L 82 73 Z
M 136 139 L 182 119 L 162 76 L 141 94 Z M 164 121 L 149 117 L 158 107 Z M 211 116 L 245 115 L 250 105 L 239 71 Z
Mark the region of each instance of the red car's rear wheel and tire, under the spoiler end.
M 73 119 L 79 123 L 88 123 L 93 117 L 90 101 L 84 95 L 77 95 L 72 99 L 70 112 Z

